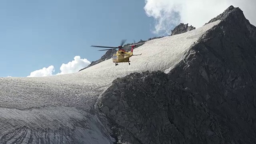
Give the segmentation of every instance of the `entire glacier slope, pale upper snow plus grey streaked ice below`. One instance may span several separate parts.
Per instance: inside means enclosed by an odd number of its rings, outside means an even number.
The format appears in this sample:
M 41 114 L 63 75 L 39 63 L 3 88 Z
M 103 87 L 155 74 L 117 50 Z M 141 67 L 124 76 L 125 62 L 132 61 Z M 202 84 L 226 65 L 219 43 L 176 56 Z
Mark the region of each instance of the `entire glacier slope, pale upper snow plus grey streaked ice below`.
M 44 138 L 46 142 L 60 138 L 60 143 L 79 143 L 84 139 L 91 143 L 110 143 L 106 129 L 89 113 L 100 93 L 117 77 L 170 69 L 182 60 L 183 54 L 200 36 L 219 22 L 150 40 L 134 50 L 134 54 L 142 55 L 132 56 L 131 65 L 115 66 L 109 59 L 73 74 L 0 78 L 0 140 L 14 142 L 17 138 L 20 142 L 16 143 L 21 143 L 22 140 L 39 142 Z

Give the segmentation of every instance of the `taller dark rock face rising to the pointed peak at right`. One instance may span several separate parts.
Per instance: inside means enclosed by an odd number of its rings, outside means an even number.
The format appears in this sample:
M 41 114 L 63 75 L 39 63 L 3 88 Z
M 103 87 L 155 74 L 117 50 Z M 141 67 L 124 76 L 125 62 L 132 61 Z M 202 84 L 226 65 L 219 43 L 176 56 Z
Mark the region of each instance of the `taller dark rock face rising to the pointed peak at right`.
M 229 7 L 170 73 L 198 92 L 234 143 L 256 142 L 256 28 L 239 8 Z

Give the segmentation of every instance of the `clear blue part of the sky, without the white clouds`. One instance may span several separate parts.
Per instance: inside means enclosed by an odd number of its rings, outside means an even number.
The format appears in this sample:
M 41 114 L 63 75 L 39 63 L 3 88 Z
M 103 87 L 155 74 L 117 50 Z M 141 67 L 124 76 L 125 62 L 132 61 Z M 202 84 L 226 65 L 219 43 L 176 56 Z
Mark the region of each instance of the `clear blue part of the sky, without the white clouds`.
M 0 77 L 26 77 L 53 65 L 54 74 L 74 56 L 90 62 L 118 46 L 158 36 L 140 0 L 1 0 Z

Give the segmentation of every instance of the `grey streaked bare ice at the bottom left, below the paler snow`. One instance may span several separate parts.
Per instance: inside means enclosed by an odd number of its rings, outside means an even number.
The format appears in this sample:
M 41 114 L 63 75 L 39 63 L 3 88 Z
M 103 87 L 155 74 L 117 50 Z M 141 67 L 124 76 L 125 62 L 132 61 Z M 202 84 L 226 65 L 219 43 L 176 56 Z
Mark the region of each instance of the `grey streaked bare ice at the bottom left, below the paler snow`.
M 112 144 L 96 116 L 71 107 L 0 108 L 0 143 Z

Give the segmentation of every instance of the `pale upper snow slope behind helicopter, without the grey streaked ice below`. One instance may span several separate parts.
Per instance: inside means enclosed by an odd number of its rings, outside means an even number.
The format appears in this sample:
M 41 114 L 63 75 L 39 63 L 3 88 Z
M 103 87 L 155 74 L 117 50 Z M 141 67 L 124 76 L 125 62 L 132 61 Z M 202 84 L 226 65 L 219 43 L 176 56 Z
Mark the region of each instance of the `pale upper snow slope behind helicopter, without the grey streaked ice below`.
M 98 95 L 112 80 L 132 72 L 166 70 L 180 62 L 182 55 L 202 34 L 220 21 L 174 36 L 146 42 L 136 48 L 131 65 L 112 59 L 106 60 L 73 74 L 34 78 L 1 78 L 0 106 L 31 108 L 44 105 L 64 105 L 89 109 Z

